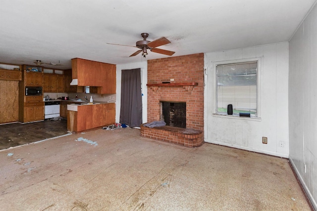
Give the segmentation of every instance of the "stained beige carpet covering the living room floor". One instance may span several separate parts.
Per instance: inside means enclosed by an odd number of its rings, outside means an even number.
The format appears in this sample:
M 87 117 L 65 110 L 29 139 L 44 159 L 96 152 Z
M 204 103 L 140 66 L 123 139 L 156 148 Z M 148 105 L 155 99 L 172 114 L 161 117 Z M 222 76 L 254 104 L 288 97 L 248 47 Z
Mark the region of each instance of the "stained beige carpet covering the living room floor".
M 98 129 L 0 151 L 0 210 L 310 210 L 286 159 L 139 134 Z

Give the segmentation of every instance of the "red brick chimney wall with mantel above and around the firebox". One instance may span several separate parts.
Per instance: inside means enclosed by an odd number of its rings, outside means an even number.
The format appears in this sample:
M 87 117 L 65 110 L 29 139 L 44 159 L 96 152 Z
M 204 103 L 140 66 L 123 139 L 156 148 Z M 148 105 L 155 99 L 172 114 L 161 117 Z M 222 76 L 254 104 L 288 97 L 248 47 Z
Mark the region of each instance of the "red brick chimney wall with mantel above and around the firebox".
M 204 130 L 204 53 L 148 60 L 148 84 L 192 83 L 183 86 L 148 87 L 148 123 L 160 120 L 159 101 L 186 102 L 186 128 Z

